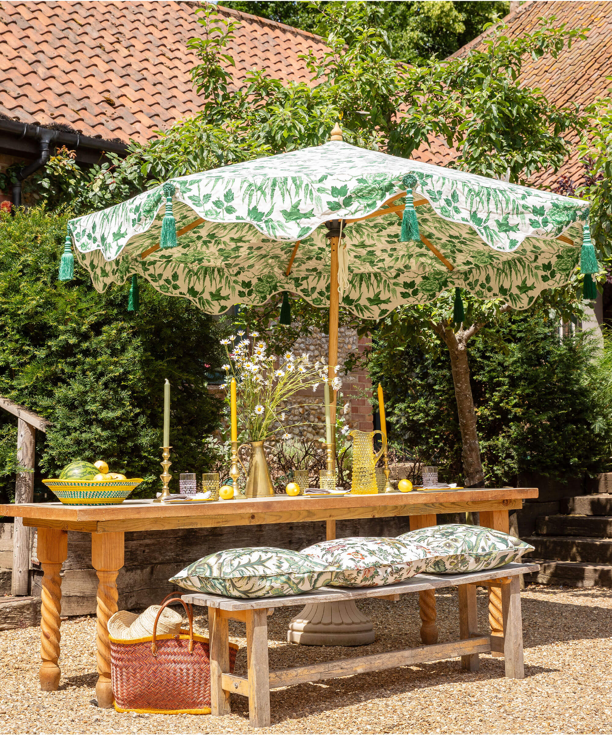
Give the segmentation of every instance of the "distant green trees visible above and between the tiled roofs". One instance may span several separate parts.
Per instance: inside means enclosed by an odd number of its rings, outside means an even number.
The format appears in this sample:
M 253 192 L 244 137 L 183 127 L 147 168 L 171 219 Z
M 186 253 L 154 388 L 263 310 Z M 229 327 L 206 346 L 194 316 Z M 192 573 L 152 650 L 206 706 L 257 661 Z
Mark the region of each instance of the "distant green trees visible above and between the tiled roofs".
M 331 3 L 325 3 L 331 4 Z M 325 4 L 322 4 L 325 7 Z M 340 3 L 335 3 L 340 4 Z M 345 3 L 342 3 L 345 4 Z M 224 7 L 242 10 L 278 23 L 311 33 L 320 29 L 320 12 L 307 1 L 228 0 Z M 384 32 L 391 55 L 396 59 L 417 62 L 434 54 L 439 59 L 450 56 L 478 36 L 496 15 L 506 15 L 509 2 L 489 1 L 404 1 L 370 2 L 368 20 Z

